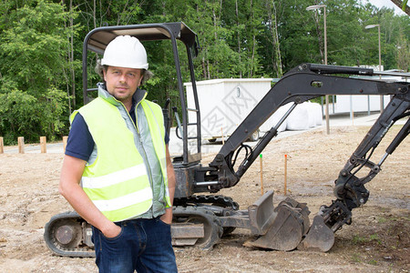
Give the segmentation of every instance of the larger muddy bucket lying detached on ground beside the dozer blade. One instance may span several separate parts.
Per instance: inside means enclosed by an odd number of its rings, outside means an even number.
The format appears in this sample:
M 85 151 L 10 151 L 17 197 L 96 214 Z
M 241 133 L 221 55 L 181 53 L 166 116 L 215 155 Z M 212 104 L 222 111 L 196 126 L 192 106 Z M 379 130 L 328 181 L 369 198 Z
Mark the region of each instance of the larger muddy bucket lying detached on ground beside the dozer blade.
M 256 248 L 290 251 L 296 248 L 309 228 L 310 211 L 305 204 L 286 198 L 273 210 L 270 226 L 254 242 L 246 245 Z

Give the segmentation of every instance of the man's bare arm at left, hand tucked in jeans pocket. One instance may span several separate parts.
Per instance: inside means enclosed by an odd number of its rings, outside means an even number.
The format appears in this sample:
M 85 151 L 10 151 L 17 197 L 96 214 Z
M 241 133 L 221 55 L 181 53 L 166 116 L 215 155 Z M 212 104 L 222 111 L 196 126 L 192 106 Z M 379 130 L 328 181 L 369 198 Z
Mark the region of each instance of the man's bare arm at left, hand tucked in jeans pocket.
M 114 238 L 118 236 L 121 227 L 108 220 L 79 186 L 85 167 L 86 161 L 66 155 L 61 169 L 58 190 L 89 224 L 101 230 L 106 237 Z

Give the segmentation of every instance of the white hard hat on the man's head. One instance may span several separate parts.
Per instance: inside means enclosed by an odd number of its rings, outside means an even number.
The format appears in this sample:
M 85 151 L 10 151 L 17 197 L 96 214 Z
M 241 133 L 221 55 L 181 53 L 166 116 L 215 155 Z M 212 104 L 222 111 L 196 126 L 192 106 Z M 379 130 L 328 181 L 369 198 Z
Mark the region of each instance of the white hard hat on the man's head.
M 101 59 L 101 65 L 141 69 L 149 67 L 144 45 L 130 35 L 120 35 L 109 42 Z

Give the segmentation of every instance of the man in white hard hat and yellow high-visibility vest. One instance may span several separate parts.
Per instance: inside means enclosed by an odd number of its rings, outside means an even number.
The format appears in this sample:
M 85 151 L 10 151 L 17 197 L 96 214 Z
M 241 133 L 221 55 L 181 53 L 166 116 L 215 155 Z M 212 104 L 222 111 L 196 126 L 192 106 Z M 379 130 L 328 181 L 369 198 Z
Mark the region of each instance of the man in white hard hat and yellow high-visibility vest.
M 169 139 L 161 108 L 138 89 L 147 53 L 118 36 L 100 67 L 98 97 L 70 116 L 59 191 L 93 226 L 100 272 L 176 272 Z

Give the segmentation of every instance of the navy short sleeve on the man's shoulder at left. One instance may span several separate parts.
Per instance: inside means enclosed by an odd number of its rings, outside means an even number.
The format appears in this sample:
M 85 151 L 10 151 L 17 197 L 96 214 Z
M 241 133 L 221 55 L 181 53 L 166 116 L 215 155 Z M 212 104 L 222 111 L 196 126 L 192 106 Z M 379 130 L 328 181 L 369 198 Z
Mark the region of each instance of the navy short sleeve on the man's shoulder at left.
M 87 161 L 93 152 L 94 145 L 94 139 L 84 117 L 77 113 L 68 134 L 66 155 Z

